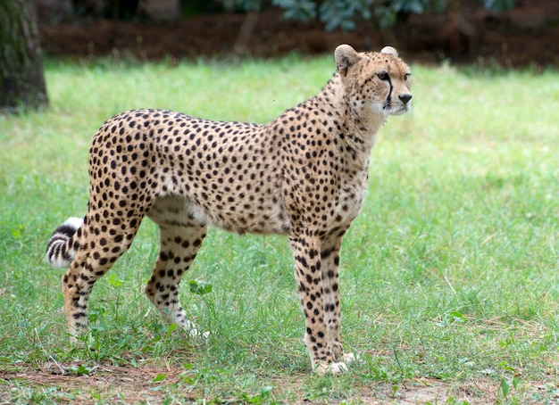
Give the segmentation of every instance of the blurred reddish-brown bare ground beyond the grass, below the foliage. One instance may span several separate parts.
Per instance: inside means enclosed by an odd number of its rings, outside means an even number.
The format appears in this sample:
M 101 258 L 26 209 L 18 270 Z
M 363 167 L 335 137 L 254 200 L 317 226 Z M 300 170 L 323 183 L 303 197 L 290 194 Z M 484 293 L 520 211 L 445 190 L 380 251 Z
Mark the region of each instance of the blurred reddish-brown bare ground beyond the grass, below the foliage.
M 324 32 L 316 21 L 286 21 L 280 10 L 216 14 L 187 21 L 108 20 L 52 22 L 43 10 L 41 42 L 46 54 L 77 58 L 129 55 L 142 60 L 229 55 L 274 57 L 290 52 L 331 53 L 340 43 L 360 50 L 396 48 L 411 62 L 559 66 L 559 2 L 517 0 L 509 12 L 493 13 L 463 1 L 461 12 L 412 14 L 391 29 L 363 22 L 352 32 Z M 50 21 L 50 22 L 47 22 Z

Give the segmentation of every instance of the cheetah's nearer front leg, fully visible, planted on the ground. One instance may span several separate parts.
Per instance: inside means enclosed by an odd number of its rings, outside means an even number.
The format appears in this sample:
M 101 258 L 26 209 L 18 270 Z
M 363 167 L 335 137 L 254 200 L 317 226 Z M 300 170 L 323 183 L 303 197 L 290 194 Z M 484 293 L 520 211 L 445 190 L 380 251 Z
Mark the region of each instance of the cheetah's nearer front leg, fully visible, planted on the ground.
M 305 344 L 313 370 L 320 374 L 338 374 L 346 363 L 337 361 L 328 338 L 321 275 L 321 241 L 310 232 L 289 237 L 301 304 L 305 313 Z

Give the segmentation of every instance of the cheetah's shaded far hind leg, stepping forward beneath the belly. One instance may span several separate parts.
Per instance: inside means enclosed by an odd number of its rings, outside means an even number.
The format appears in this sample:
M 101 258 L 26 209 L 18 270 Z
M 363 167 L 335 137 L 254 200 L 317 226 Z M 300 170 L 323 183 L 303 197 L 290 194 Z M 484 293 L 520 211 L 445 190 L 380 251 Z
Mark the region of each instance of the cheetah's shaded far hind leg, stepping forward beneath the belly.
M 170 221 L 171 222 L 171 221 Z M 160 252 L 146 285 L 146 294 L 162 317 L 171 324 L 177 324 L 189 337 L 207 337 L 194 322 L 187 318 L 179 301 L 180 279 L 196 258 L 207 227 L 160 222 Z

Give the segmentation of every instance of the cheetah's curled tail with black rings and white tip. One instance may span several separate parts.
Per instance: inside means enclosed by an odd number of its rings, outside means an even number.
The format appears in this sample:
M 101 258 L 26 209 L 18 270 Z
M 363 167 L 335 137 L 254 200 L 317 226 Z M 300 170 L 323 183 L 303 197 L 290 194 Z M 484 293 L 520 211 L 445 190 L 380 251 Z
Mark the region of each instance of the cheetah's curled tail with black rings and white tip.
M 83 219 L 71 217 L 57 227 L 46 245 L 46 261 L 55 268 L 67 268 L 74 258 L 72 236 L 81 227 Z

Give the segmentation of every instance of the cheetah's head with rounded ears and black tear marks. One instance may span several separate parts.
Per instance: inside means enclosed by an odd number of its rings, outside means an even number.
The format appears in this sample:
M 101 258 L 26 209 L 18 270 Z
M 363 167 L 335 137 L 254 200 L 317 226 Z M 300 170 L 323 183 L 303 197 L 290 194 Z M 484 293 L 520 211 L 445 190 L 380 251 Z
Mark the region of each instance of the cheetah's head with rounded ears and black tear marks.
M 334 56 L 346 104 L 358 119 L 386 119 L 410 109 L 411 70 L 392 46 L 357 53 L 350 45 L 339 45 Z

